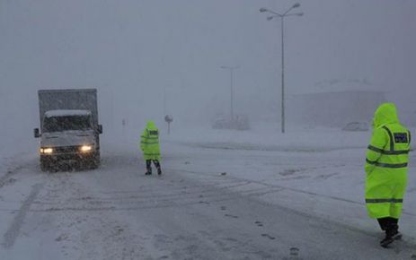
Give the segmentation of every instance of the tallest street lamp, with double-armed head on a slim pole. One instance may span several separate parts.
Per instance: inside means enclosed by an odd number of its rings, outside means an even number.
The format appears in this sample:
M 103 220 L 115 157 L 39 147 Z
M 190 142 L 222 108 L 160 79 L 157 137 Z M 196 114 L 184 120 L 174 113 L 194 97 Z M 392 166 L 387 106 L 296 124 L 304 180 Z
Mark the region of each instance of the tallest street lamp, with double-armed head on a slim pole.
M 292 7 L 288 9 L 283 14 L 276 13 L 268 8 L 261 7 L 260 13 L 271 13 L 270 16 L 267 17 L 268 21 L 273 20 L 276 17 L 279 17 L 281 22 L 281 133 L 285 133 L 285 45 L 284 45 L 284 27 L 283 22 L 284 18 L 287 16 L 302 16 L 304 13 L 289 13 L 293 9 L 300 7 L 300 4 L 293 4 Z

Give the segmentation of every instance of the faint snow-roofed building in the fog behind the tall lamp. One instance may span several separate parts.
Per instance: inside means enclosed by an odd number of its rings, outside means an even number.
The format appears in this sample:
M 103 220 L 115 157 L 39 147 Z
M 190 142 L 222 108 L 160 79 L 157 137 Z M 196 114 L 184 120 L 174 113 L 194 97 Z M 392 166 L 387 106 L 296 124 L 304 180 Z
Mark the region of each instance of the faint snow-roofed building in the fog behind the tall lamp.
M 350 122 L 370 123 L 374 111 L 385 102 L 385 92 L 363 81 L 331 81 L 315 85 L 315 91 L 293 95 L 292 120 L 311 126 L 342 127 Z

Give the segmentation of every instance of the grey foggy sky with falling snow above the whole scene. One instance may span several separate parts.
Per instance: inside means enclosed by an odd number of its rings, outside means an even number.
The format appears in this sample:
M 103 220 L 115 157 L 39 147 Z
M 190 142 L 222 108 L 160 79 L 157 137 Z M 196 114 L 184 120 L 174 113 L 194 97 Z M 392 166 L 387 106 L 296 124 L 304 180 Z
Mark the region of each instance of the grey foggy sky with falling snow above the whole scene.
M 285 20 L 288 100 L 314 92 L 320 82 L 368 82 L 411 122 L 416 2 L 298 2 L 305 15 Z M 280 21 L 267 21 L 259 9 L 282 13 L 294 3 L 0 0 L 2 136 L 6 143 L 35 142 L 40 89 L 97 88 L 107 134 L 118 132 L 124 119 L 138 136 L 147 119 L 162 124 L 164 110 L 176 127 L 209 126 L 229 113 L 222 65 L 240 66 L 235 112 L 278 129 Z

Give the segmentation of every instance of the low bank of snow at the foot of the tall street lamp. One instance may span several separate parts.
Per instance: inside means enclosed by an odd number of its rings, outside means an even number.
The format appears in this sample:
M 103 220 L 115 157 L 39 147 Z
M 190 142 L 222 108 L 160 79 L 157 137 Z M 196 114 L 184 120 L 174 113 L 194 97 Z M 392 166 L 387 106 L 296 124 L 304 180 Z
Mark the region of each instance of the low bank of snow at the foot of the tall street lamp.
M 173 132 L 166 140 L 196 143 L 207 148 L 282 152 L 323 152 L 333 149 L 364 148 L 370 132 L 349 132 L 337 128 L 297 127 L 281 134 L 277 127 L 255 126 L 251 131 L 192 129 Z

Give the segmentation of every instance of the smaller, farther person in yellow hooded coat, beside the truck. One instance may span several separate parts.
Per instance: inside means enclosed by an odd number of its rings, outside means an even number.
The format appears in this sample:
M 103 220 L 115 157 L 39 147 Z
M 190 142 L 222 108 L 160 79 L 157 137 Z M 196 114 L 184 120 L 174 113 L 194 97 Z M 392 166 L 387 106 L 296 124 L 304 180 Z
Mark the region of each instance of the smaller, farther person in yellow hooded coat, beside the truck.
M 155 122 L 147 121 L 146 128 L 140 138 L 140 149 L 143 152 L 143 159 L 146 160 L 146 175 L 152 174 L 152 161 L 157 169 L 157 174 L 161 175 L 159 129 L 155 126 Z

